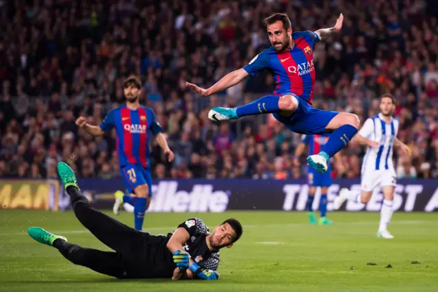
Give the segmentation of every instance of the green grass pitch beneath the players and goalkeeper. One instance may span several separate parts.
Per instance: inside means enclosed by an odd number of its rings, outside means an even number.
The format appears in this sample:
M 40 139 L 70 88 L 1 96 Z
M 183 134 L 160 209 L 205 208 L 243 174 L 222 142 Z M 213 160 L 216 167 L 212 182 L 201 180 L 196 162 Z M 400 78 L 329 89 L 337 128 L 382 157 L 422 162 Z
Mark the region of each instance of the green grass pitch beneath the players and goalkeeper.
M 244 225 L 242 239 L 221 252 L 220 281 L 103 276 L 27 235 L 39 226 L 107 250 L 73 212 L 0 210 L 0 291 L 438 291 L 437 213 L 395 213 L 393 240 L 377 239 L 379 214 L 365 212 L 333 212 L 333 226 L 311 226 L 303 212 L 149 213 L 145 230 L 166 234 L 195 216 L 210 228 L 228 217 Z M 118 219 L 132 226 L 131 214 Z

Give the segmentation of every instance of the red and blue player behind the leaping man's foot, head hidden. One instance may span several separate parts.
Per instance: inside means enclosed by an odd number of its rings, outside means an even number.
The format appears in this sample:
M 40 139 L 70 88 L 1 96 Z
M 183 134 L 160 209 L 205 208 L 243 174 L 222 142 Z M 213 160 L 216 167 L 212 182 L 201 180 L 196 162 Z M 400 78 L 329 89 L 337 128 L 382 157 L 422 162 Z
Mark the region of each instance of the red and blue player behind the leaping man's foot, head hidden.
M 324 151 L 327 142 L 329 141 L 330 134 L 324 133 L 320 135 L 302 135 L 301 143 L 298 144 L 295 150 L 294 164 L 296 166 L 300 165 L 299 158 L 305 148 L 309 150 L 309 155 L 318 154 L 320 151 Z M 337 156 L 334 156 L 335 158 Z M 331 224 L 332 222 L 327 219 L 327 191 L 329 186 L 331 186 L 331 167 L 328 165 L 327 171 L 324 173 L 318 173 L 315 169 L 307 169 L 307 183 L 309 184 L 309 196 L 307 197 L 306 208 L 309 215 L 309 221 L 311 224 L 316 224 L 317 220 L 315 213 L 313 212 L 313 199 L 315 197 L 316 188 L 320 186 L 321 197 L 320 197 L 320 225 Z

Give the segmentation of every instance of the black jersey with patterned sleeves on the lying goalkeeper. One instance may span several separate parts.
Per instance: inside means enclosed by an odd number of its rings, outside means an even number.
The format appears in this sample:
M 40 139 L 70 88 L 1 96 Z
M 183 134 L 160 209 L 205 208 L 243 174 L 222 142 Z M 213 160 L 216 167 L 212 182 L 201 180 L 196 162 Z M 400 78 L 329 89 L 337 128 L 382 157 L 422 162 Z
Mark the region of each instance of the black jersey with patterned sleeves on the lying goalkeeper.
M 205 237 L 210 233 L 208 227 L 201 219 L 191 218 L 179 224 L 178 228 L 184 228 L 189 232 L 190 239 L 183 245 L 184 250 L 190 254 L 192 260 L 205 269 L 218 269 L 219 251 L 210 252 Z M 148 256 L 146 274 L 148 278 L 171 278 L 175 263 L 172 253 L 167 249 L 172 233 L 164 235 L 148 236 Z

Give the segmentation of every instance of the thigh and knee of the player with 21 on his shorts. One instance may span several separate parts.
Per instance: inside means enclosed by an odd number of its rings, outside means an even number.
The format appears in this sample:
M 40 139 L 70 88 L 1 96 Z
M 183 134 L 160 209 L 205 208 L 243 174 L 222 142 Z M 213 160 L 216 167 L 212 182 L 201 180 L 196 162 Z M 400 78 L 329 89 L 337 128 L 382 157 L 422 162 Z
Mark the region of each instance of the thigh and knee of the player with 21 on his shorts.
M 122 173 L 123 181 L 129 193 L 135 193 L 140 197 L 148 197 L 149 188 L 141 165 L 126 165 L 121 167 L 120 173 Z

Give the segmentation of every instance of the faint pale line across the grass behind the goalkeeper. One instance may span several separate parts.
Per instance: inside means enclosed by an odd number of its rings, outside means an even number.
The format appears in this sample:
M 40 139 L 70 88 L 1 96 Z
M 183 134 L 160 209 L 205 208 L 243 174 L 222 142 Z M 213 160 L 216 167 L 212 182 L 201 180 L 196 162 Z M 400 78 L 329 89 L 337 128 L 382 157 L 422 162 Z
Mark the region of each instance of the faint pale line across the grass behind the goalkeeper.
M 417 224 L 424 224 L 424 223 L 435 223 L 435 221 L 427 221 L 427 220 L 402 220 L 402 221 L 394 221 L 391 222 L 391 225 L 417 225 Z M 356 222 L 339 222 L 334 223 L 335 226 L 368 226 L 368 225 L 378 225 L 378 219 L 376 218 L 375 221 L 356 221 Z M 294 226 L 309 226 L 309 223 L 276 223 L 276 224 L 249 224 L 244 225 L 244 228 L 275 228 L 275 227 L 294 227 Z M 30 227 L 30 226 L 29 226 Z M 147 230 L 144 230 L 145 232 L 152 232 L 152 231 L 163 231 L 167 230 L 167 232 L 171 232 L 172 230 L 175 230 L 175 226 L 159 226 L 159 227 L 149 227 Z M 54 234 L 82 234 L 82 233 L 89 233 L 90 231 L 83 229 L 83 230 L 49 230 L 50 232 L 53 232 Z M 8 235 L 25 235 L 27 232 L 5 232 L 0 233 L 0 236 L 8 236 Z

